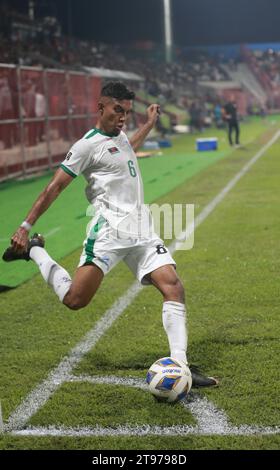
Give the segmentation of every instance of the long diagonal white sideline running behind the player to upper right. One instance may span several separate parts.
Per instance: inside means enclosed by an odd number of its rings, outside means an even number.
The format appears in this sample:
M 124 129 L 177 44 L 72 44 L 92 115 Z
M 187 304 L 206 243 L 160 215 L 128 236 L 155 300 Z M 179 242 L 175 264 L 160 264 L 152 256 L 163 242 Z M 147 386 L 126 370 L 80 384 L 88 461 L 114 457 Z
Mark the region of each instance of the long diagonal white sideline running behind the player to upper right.
M 195 226 L 198 227 L 224 199 L 227 193 L 235 186 L 242 176 L 256 163 L 256 161 L 273 145 L 280 137 L 280 130 L 265 144 L 259 152 L 247 162 L 244 167 L 230 180 L 230 182 L 219 192 L 219 194 L 201 211 L 195 219 Z M 188 231 L 188 228 L 186 229 Z M 185 232 L 186 232 L 185 231 Z M 183 238 L 183 234 L 182 237 Z M 171 253 L 176 251 L 179 242 L 173 242 L 169 246 Z M 135 281 L 127 292 L 118 299 L 113 306 L 108 309 L 103 317 L 97 322 L 84 338 L 65 356 L 59 365 L 53 369 L 46 380 L 33 389 L 25 400 L 16 408 L 4 425 L 4 430 L 11 432 L 23 428 L 28 420 L 47 402 L 49 397 L 58 387 L 68 380 L 72 369 L 81 361 L 103 334 L 110 328 L 114 321 L 122 314 L 125 308 L 134 300 L 143 286 Z M 238 428 L 239 429 L 239 428 Z

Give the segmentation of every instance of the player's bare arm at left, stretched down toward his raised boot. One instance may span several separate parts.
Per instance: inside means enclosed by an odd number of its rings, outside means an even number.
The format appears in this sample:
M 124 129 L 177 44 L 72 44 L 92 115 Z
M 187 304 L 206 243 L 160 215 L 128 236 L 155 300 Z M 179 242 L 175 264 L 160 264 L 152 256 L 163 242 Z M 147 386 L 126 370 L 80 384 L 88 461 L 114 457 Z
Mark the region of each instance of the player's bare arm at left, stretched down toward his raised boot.
M 72 176 L 59 168 L 44 191 L 33 204 L 25 221 L 30 225 L 34 225 L 39 217 L 50 207 L 57 196 L 68 186 L 69 183 L 71 183 L 72 180 Z M 28 242 L 28 233 L 29 231 L 24 227 L 19 227 L 14 233 L 11 239 L 11 244 L 15 251 L 23 251 L 25 249 Z

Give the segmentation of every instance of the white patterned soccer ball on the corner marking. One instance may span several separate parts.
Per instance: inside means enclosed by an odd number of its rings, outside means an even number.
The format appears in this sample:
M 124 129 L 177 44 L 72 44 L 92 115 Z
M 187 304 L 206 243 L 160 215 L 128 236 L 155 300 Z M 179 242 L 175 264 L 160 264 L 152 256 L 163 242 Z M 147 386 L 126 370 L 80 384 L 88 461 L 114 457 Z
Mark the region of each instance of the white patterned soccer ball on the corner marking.
M 189 393 L 192 375 L 184 362 L 163 357 L 151 365 L 146 382 L 158 401 L 171 403 L 182 400 Z

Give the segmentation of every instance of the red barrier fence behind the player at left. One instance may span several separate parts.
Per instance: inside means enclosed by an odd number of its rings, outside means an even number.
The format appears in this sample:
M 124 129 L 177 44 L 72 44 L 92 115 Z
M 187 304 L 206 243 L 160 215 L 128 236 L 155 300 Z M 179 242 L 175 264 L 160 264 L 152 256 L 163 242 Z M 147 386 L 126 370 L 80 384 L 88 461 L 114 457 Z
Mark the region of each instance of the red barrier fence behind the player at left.
M 0 181 L 53 168 L 94 127 L 101 79 L 0 64 Z

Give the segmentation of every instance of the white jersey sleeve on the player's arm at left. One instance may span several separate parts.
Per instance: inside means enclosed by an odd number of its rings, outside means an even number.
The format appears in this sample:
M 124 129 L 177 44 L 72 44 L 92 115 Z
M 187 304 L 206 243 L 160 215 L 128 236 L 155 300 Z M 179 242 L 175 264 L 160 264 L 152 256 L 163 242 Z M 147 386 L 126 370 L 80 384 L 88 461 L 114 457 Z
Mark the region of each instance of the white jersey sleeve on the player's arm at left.
M 60 168 L 73 178 L 80 175 L 91 164 L 91 149 L 89 143 L 78 140 L 69 150 Z

